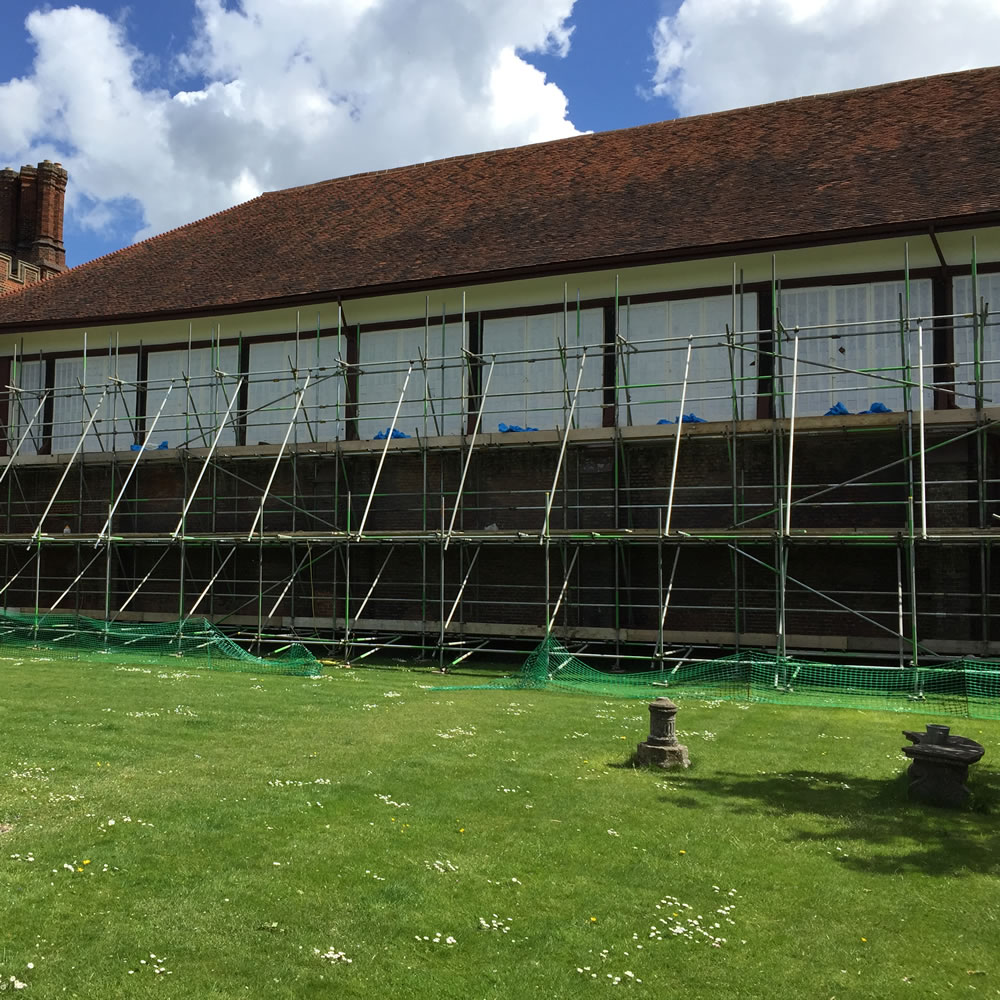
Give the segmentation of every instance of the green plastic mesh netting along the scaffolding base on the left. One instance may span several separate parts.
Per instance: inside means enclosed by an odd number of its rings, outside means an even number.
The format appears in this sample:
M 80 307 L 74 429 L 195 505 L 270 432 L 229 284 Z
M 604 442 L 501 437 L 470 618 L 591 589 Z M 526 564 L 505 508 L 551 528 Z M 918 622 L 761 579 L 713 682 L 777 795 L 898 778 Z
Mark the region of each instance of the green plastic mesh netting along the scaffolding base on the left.
M 270 657 L 248 653 L 204 618 L 182 622 L 104 622 L 82 615 L 0 612 L 0 646 L 87 653 L 120 663 L 161 663 L 175 657 L 199 670 L 242 670 L 312 676 L 319 661 L 299 643 Z

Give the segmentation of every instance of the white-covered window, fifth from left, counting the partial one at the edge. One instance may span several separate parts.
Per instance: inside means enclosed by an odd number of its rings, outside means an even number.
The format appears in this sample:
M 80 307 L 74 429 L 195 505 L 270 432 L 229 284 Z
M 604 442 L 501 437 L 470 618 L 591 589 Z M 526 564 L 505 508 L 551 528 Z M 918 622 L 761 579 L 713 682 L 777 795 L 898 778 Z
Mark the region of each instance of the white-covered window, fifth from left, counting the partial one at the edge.
M 464 335 L 461 323 L 449 323 L 443 330 L 421 326 L 362 332 L 358 436 L 368 439 L 389 430 L 404 385 L 397 431 L 411 437 L 417 432 L 461 433 L 468 372 L 462 358 Z

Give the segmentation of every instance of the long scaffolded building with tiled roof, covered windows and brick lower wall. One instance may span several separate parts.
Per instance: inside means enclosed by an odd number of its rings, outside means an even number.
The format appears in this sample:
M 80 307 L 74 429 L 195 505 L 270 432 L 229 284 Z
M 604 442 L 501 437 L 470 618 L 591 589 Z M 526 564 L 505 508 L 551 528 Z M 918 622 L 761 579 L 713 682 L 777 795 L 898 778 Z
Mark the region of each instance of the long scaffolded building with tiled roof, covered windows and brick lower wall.
M 1000 653 L 998 94 L 340 178 L 0 298 L 7 606 L 442 658 Z

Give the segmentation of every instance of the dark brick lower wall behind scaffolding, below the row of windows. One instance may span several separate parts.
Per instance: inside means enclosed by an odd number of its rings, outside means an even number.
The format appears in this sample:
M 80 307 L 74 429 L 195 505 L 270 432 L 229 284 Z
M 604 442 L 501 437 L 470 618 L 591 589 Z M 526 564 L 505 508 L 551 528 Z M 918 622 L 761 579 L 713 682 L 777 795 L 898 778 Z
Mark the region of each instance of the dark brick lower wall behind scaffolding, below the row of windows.
M 929 443 L 938 440 L 943 439 L 931 438 Z M 796 439 L 793 496 L 826 492 L 794 511 L 785 597 L 787 634 L 831 637 L 841 645 L 847 640 L 871 640 L 883 648 L 892 646 L 900 582 L 904 631 L 909 634 L 909 547 L 905 539 L 910 487 L 908 465 L 899 462 L 905 444 L 898 430 L 867 434 L 837 430 Z M 600 628 L 609 635 L 615 629 L 655 633 L 673 574 L 665 623 L 668 633 L 738 631 L 774 636 L 778 588 L 776 574 L 769 567 L 778 565 L 779 552 L 776 536 L 767 532 L 777 524 L 776 500 L 783 501 L 784 496 L 780 482 L 786 467 L 781 449 L 764 436 L 741 438 L 735 454 L 723 436 L 692 435 L 682 441 L 672 527 L 711 533 L 765 514 L 746 521 L 763 528 L 763 537 L 733 542 L 731 538 L 683 536 L 658 539 L 655 531 L 643 532 L 662 524 L 673 447 L 672 438 L 663 438 L 617 447 L 606 441 L 568 449 L 550 524 L 556 531 L 568 529 L 573 537 L 554 539 L 547 552 L 550 609 L 577 552 L 558 628 Z M 545 493 L 555 475 L 556 447 L 505 444 L 475 452 L 456 530 L 482 531 L 496 524 L 498 536 L 480 536 L 476 544 L 455 542 L 447 552 L 442 552 L 434 535 L 422 544 L 406 533 L 447 529 L 464 461 L 458 449 L 426 454 L 416 449 L 392 451 L 366 524 L 367 534 L 384 533 L 384 540 L 350 546 L 342 536 L 333 540 L 333 533 L 347 528 L 348 516 L 351 528 L 357 530 L 378 466 L 378 452 L 302 453 L 294 459 L 286 455 L 265 504 L 265 531 L 301 531 L 316 536 L 329 532 L 331 541 L 317 537 L 308 544 L 289 540 L 263 547 L 246 542 L 262 487 L 274 465 L 273 452 L 260 451 L 256 456 L 239 450 L 220 457 L 188 514 L 190 534 L 231 533 L 232 538 L 242 539 L 209 588 L 199 614 L 255 618 L 259 577 L 265 617 L 276 605 L 278 619 L 329 620 L 333 630 L 334 618 L 343 619 L 345 613 L 352 620 L 357 616 L 371 590 L 361 628 L 365 621 L 393 621 L 408 623 L 414 631 L 436 634 L 442 616 L 443 572 L 445 615 L 466 581 L 463 599 L 455 608 L 452 633 L 461 632 L 467 622 L 544 628 L 546 547 L 536 544 L 536 539 L 544 519 Z M 995 506 L 989 480 L 996 478 L 1000 466 L 995 442 L 986 439 L 981 447 L 978 437 L 969 436 L 952 440 L 931 455 L 930 527 L 965 528 L 978 522 L 980 505 L 975 500 L 980 466 L 988 486 L 984 495 L 989 518 Z M 163 546 L 151 536 L 173 531 L 201 461 L 183 452 L 154 453 L 139 464 L 115 517 L 114 530 L 124 539 L 115 548 L 111 567 L 111 603 L 115 608 L 162 557 L 130 610 L 164 617 L 178 613 L 182 606 L 180 554 L 170 549 L 164 555 Z M 11 477 L 12 488 L 0 502 L 0 522 L 8 534 L 30 535 L 35 530 L 62 472 L 58 464 L 32 463 L 21 466 Z M 861 482 L 832 489 L 827 485 L 883 465 L 890 468 Z M 125 468 L 126 463 L 120 463 L 113 470 L 108 459 L 86 456 L 71 470 L 44 530 L 59 535 L 63 525 L 69 524 L 74 532 L 99 531 L 107 516 L 112 483 L 115 489 L 120 488 Z M 735 517 L 734 470 L 739 485 Z M 919 517 L 917 508 L 914 516 Z M 609 539 L 607 534 L 616 524 L 622 531 L 631 529 L 634 536 L 619 532 L 617 539 Z M 794 538 L 796 529 L 807 527 L 840 537 Z M 516 543 L 500 539 L 500 534 L 510 531 L 521 532 L 522 538 Z M 127 540 L 133 533 L 149 540 L 133 544 Z M 882 537 L 856 537 L 866 533 Z M 904 544 L 897 544 L 899 539 Z M 223 539 L 214 547 L 186 546 L 185 609 L 190 609 L 233 545 Z M 925 642 L 975 643 L 1000 638 L 989 635 L 985 617 L 1000 610 L 996 598 L 989 596 L 1000 592 L 1000 567 L 985 541 L 943 545 L 918 540 L 914 553 L 918 631 Z M 47 601 L 55 600 L 92 554 L 92 543 L 46 549 L 40 604 L 47 606 Z M 34 604 L 31 557 L 24 547 L 6 547 L 8 580 L 19 569 L 24 570 L 8 590 L 11 606 Z M 296 567 L 300 567 L 297 573 Z M 99 559 L 63 600 L 62 607 L 102 609 L 105 570 L 105 561 Z M 292 585 L 286 587 L 293 575 Z M 862 614 L 838 607 L 822 595 Z

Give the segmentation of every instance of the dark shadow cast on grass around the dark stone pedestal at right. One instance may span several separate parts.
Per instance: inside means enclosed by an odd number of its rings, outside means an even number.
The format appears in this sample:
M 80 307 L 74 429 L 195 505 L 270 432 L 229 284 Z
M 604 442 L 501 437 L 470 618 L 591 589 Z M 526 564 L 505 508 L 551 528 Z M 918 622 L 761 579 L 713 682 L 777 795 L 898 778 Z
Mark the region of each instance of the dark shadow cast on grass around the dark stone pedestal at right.
M 970 774 L 973 799 L 965 810 L 909 802 L 903 773 L 875 779 L 815 770 L 704 777 L 674 771 L 669 780 L 675 791 L 661 798 L 664 803 L 701 809 L 706 798 L 714 798 L 735 815 L 784 817 L 789 841 L 827 844 L 837 864 L 859 872 L 1000 873 L 993 840 L 1000 813 L 1000 773 L 994 771 L 974 769 Z M 810 819 L 819 822 L 808 823 Z M 836 845 L 848 842 L 849 856 L 838 857 Z M 859 848 L 858 842 L 864 846 Z

